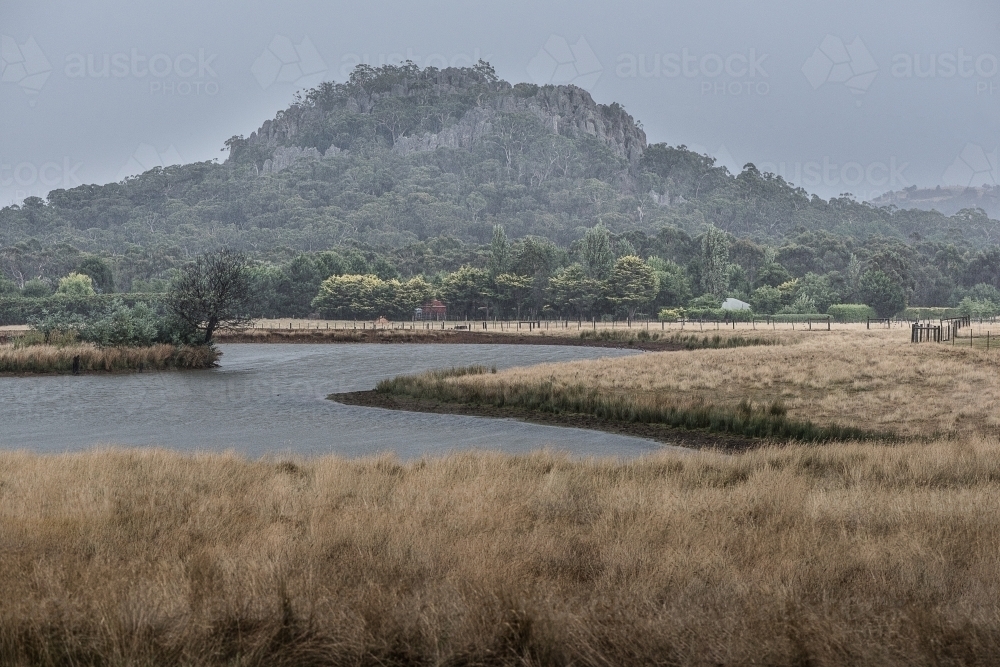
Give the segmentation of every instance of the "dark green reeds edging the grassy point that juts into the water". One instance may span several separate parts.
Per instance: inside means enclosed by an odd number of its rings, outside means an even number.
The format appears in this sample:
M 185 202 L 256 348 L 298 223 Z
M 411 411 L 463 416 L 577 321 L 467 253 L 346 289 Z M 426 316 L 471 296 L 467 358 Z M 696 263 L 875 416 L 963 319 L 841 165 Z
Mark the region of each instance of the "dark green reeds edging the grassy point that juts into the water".
M 705 429 L 748 438 L 773 438 L 801 442 L 891 439 L 891 434 L 864 429 L 817 425 L 788 418 L 780 400 L 754 403 L 744 399 L 735 408 L 703 401 L 678 404 L 655 393 L 612 391 L 580 384 L 561 385 L 551 379 L 534 382 L 506 380 L 477 382 L 483 366 L 437 370 L 382 380 L 375 391 L 382 394 L 432 399 L 445 403 L 521 408 L 551 414 L 582 414 L 608 422 L 662 424 L 673 428 Z M 456 382 L 462 378 L 465 381 Z

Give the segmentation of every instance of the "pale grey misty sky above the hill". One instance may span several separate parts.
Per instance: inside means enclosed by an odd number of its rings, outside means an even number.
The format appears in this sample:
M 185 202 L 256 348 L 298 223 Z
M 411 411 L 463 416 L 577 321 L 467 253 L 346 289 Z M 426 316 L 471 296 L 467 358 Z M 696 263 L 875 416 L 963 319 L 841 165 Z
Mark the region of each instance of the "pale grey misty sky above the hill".
M 1000 4 L 0 0 L 0 205 L 224 159 L 357 62 L 490 61 L 823 197 L 1000 181 Z

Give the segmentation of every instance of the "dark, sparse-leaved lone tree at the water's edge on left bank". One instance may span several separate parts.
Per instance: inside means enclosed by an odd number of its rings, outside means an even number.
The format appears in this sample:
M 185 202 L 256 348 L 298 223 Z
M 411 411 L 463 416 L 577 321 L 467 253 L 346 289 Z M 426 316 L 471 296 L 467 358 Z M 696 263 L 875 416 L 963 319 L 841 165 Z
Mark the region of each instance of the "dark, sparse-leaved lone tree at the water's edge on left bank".
M 252 297 L 250 260 L 242 252 L 220 250 L 201 255 L 181 269 L 167 295 L 169 311 L 204 331 L 208 345 L 220 329 L 246 326 Z

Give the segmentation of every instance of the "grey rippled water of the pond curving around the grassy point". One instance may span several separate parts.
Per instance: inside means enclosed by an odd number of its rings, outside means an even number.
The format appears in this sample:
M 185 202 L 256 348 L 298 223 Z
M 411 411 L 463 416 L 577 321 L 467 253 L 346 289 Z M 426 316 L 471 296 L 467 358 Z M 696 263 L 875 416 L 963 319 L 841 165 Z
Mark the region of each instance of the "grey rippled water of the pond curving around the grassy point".
M 340 405 L 335 392 L 387 377 L 483 364 L 508 368 L 635 354 L 541 345 L 222 345 L 208 371 L 0 378 L 0 447 L 62 452 L 95 445 L 266 453 L 458 449 L 636 456 L 663 448 L 640 438 L 507 419 Z

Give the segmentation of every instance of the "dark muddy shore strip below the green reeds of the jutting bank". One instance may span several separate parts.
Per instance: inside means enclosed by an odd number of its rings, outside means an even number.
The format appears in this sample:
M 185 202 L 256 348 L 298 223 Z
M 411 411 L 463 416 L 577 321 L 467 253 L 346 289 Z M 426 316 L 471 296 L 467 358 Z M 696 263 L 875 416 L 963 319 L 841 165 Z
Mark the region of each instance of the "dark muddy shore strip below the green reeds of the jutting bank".
M 351 391 L 330 394 L 327 400 L 343 405 L 366 408 L 383 408 L 403 412 L 424 412 L 430 414 L 464 415 L 469 417 L 490 417 L 493 419 L 516 419 L 517 421 L 542 426 L 563 426 L 590 431 L 602 431 L 616 435 L 628 435 L 646 440 L 654 440 L 666 445 L 687 447 L 692 450 L 715 450 L 723 453 L 739 453 L 757 449 L 771 441 L 739 436 L 711 433 L 704 430 L 686 430 L 665 424 L 641 422 L 613 422 L 586 414 L 549 413 L 518 407 L 497 407 L 451 403 L 433 399 L 416 399 L 408 396 L 383 394 L 375 390 Z

